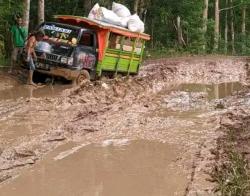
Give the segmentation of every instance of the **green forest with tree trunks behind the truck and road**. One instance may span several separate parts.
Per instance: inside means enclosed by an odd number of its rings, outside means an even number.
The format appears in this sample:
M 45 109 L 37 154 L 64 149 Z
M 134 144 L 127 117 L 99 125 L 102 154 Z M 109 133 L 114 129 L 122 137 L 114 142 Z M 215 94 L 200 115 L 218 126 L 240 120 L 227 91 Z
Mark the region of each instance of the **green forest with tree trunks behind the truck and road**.
M 112 0 L 0 0 L 0 56 L 10 50 L 8 29 L 14 15 L 30 2 L 30 31 L 38 24 L 40 4 L 45 20 L 55 14 L 86 16 L 95 3 L 111 8 Z M 117 0 L 137 12 L 152 39 L 151 56 L 176 54 L 250 54 L 250 0 Z M 24 3 L 24 5 L 22 4 Z M 218 3 L 218 9 L 216 5 Z M 207 6 L 206 6 L 207 5 Z

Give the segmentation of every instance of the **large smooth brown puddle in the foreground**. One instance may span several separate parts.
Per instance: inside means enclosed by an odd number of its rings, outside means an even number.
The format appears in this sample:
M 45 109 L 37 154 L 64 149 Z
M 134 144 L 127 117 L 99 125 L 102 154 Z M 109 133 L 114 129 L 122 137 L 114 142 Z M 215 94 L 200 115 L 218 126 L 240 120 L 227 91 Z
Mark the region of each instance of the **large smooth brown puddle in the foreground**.
M 151 141 L 121 143 L 61 146 L 10 184 L 3 184 L 0 195 L 184 195 L 188 180 L 176 163 L 177 148 Z

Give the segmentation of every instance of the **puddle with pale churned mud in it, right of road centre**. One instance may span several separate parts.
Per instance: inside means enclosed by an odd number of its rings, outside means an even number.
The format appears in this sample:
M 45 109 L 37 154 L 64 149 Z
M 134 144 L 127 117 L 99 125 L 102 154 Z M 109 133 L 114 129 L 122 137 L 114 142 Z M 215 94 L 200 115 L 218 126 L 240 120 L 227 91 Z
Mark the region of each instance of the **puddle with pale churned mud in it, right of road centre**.
M 157 95 L 160 116 L 195 120 L 197 116 L 223 107 L 224 98 L 238 94 L 244 86 L 239 82 L 219 84 L 183 83 L 162 90 Z M 220 108 L 223 109 L 223 108 Z

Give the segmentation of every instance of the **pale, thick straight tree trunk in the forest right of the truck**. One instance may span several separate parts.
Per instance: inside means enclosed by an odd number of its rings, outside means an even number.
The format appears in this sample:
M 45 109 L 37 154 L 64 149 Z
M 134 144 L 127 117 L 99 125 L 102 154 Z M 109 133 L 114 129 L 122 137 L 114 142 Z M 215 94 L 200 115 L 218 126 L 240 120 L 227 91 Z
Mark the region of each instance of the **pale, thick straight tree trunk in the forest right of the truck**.
M 219 0 L 215 0 L 214 51 L 217 51 L 219 48 L 219 36 L 220 36 Z

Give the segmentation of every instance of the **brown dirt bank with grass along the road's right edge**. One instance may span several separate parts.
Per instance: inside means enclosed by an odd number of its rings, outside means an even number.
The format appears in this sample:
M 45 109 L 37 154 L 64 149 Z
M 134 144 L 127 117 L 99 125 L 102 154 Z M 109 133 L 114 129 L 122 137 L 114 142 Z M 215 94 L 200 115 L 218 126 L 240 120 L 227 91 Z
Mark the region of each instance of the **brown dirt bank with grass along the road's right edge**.
M 249 86 L 224 100 L 227 108 L 217 131 L 222 135 L 211 152 L 215 163 L 211 177 L 222 195 L 250 195 L 250 110 Z

